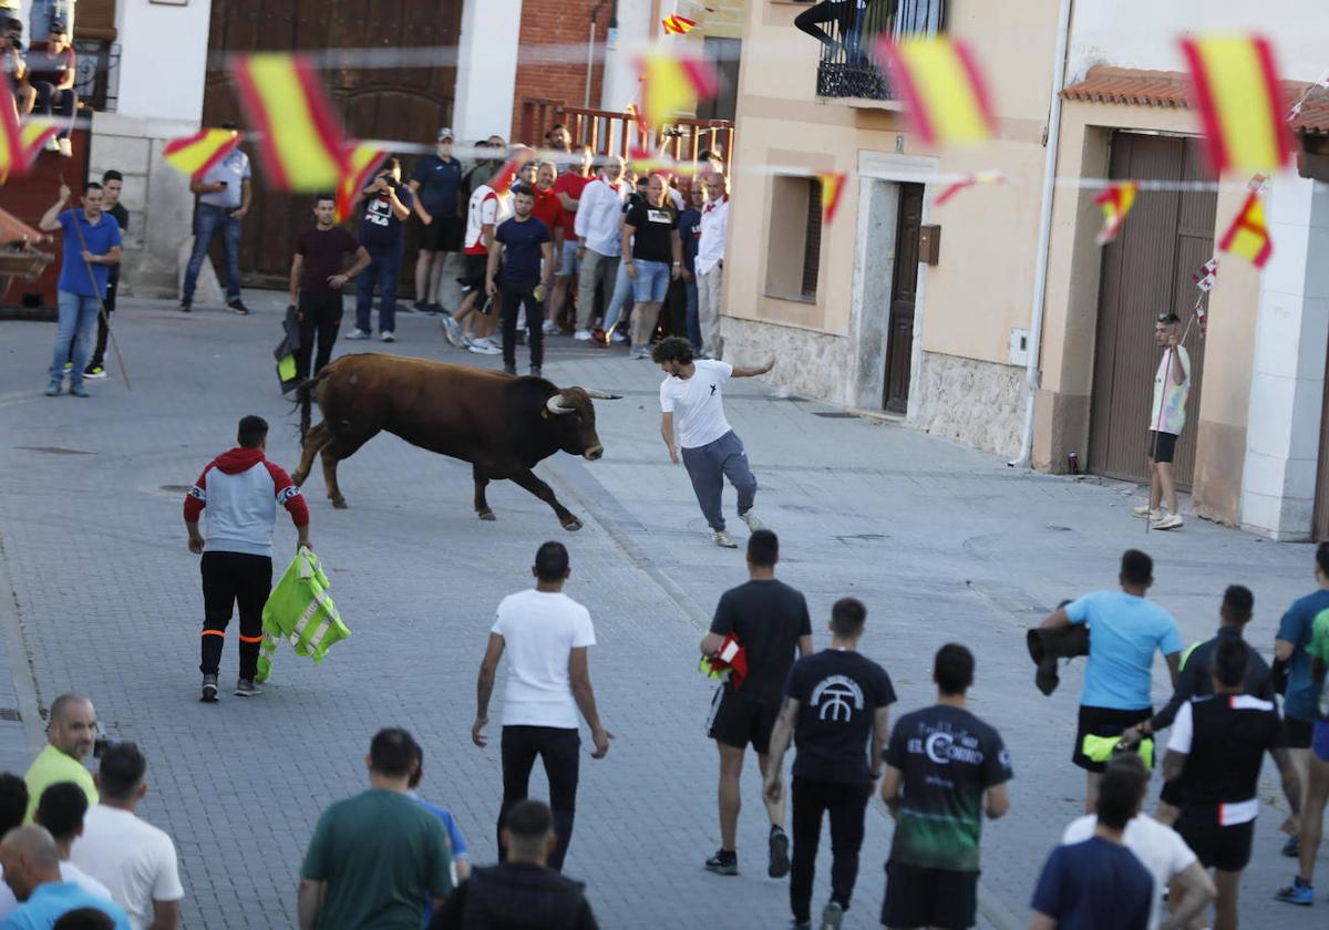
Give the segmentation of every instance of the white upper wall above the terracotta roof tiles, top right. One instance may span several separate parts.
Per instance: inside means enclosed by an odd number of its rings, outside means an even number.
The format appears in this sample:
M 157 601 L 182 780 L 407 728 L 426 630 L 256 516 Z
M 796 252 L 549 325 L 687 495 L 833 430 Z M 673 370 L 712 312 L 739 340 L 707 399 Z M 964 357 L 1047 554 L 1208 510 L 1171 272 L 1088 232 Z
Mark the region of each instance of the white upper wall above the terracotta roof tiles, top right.
M 1257 32 L 1275 46 L 1280 77 L 1313 81 L 1329 68 L 1325 0 L 1076 0 L 1067 82 L 1091 65 L 1184 70 L 1177 39 L 1188 32 Z

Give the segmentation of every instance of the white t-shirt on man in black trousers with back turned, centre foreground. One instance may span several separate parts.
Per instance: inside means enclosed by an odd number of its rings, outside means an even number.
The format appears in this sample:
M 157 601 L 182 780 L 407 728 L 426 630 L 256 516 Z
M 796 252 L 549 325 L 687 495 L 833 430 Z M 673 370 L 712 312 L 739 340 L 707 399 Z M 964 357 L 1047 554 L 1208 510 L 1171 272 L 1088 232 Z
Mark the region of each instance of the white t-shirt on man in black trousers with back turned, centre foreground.
M 530 589 L 502 599 L 490 632 L 504 638 L 508 656 L 504 727 L 577 729 L 567 660 L 595 644 L 590 611 L 566 594 Z

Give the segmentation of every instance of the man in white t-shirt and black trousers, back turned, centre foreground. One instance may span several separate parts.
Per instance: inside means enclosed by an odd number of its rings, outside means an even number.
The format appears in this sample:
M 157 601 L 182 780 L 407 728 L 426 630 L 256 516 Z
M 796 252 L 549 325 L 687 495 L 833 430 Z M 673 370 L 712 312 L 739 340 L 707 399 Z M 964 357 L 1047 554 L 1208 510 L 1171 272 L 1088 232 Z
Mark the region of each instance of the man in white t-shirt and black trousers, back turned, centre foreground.
M 476 723 L 472 741 L 484 748 L 489 739 L 489 698 L 494 690 L 498 660 L 508 652 L 508 688 L 502 712 L 502 805 L 498 810 L 500 861 L 504 858 L 504 820 L 518 801 L 526 800 L 536 757 L 549 777 L 549 806 L 554 812 L 558 846 L 549 868 L 562 872 L 573 837 L 577 812 L 577 775 L 581 765 L 581 735 L 577 711 L 586 717 L 595 744 L 591 759 L 609 753 L 614 739 L 599 721 L 595 691 L 590 684 L 587 650 L 595 644 L 590 611 L 563 594 L 571 574 L 567 550 L 546 542 L 532 566 L 536 587 L 512 594 L 498 604 L 489 631 L 489 646 L 480 663 L 476 686 Z

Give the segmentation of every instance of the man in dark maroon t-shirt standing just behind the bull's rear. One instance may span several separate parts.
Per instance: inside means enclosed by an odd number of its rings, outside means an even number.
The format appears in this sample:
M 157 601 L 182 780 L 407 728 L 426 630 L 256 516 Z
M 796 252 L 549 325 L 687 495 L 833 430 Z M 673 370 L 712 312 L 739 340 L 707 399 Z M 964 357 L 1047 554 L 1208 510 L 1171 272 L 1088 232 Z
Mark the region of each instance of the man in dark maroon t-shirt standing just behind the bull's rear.
M 299 308 L 300 347 L 295 349 L 295 373 L 299 377 L 318 375 L 332 359 L 332 343 L 342 327 L 342 286 L 364 271 L 369 252 L 346 229 L 336 226 L 336 201 L 331 194 L 314 197 L 314 226 L 300 230 L 295 238 L 295 256 L 291 259 L 291 306 Z M 342 271 L 347 254 L 355 254 L 355 263 Z M 314 337 L 319 340 L 319 353 L 310 371 Z

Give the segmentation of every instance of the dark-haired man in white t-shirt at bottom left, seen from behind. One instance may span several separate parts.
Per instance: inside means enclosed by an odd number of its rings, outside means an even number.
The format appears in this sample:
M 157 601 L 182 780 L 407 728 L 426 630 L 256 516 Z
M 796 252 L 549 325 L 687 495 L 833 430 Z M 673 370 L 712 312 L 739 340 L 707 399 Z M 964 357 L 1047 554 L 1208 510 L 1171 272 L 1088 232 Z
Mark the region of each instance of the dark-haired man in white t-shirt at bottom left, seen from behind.
M 185 889 L 175 844 L 134 813 L 148 793 L 148 760 L 133 743 L 114 743 L 101 755 L 101 804 L 84 817 L 84 833 L 70 860 L 110 889 L 134 930 L 175 930 Z

